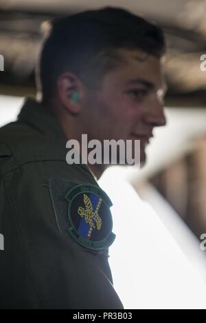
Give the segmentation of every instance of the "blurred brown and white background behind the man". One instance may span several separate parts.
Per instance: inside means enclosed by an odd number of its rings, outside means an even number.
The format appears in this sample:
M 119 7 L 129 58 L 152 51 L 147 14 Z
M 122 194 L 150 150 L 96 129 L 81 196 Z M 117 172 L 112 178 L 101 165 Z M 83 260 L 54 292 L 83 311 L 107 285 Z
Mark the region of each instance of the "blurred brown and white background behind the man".
M 103 6 L 156 21 L 168 43 L 168 125 L 155 132 L 144 169 L 111 167 L 100 179 L 113 201 L 115 289 L 128 309 L 206 309 L 205 0 L 0 0 L 0 126 L 36 94 L 43 21 Z

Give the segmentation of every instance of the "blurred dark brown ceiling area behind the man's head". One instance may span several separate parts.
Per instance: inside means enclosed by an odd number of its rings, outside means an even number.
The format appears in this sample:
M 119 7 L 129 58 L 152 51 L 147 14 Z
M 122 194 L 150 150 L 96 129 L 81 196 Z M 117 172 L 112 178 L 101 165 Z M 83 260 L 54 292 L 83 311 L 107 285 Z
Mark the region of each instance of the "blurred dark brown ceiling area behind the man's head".
M 35 94 L 34 67 L 41 46 L 42 23 L 54 17 L 84 10 L 84 6 L 69 6 L 69 1 L 66 8 L 65 1 L 62 2 L 62 8 L 61 1 L 56 3 L 56 7 L 49 7 L 49 1 L 45 1 L 45 6 L 39 7 L 23 6 L 22 1 L 19 1 L 21 6 L 18 6 L 18 1 L 13 2 L 15 6 L 3 6 L 0 2 L 0 54 L 5 59 L 4 72 L 0 73 L 0 94 L 25 96 Z M 163 13 L 164 8 L 159 10 L 161 14 L 158 16 L 155 2 L 161 5 L 160 0 L 150 1 L 150 10 L 147 7 L 144 10 L 148 1 L 139 3 L 141 13 L 146 18 L 155 20 L 165 31 L 168 43 L 165 74 L 169 89 L 166 104 L 205 107 L 206 72 L 202 72 L 200 66 L 201 55 L 206 54 L 206 3 L 196 0 L 196 8 L 195 1 L 182 1 L 182 11 L 179 12 L 179 8 L 174 7 L 171 17 L 168 18 Z M 167 2 L 162 1 L 163 6 Z M 102 6 L 104 3 L 105 1 Z M 106 3 L 108 5 L 108 1 Z M 138 1 L 136 4 L 138 5 Z M 155 8 L 154 14 L 152 6 Z M 137 11 L 137 8 L 138 6 L 127 9 Z

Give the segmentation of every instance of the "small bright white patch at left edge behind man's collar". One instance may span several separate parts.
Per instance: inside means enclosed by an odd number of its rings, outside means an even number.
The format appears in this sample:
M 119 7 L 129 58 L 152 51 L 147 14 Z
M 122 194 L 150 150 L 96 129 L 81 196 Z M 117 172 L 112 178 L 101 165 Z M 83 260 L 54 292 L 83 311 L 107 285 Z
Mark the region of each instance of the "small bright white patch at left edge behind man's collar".
M 23 105 L 23 98 L 0 95 L 0 127 L 16 120 Z

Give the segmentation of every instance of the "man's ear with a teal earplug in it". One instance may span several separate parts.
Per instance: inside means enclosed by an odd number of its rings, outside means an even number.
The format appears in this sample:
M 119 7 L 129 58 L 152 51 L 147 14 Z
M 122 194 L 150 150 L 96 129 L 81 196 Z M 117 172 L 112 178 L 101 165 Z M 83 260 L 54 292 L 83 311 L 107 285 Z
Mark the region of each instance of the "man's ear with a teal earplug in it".
M 71 73 L 64 73 L 58 76 L 57 94 L 60 103 L 71 114 L 78 114 L 81 109 L 82 82 Z

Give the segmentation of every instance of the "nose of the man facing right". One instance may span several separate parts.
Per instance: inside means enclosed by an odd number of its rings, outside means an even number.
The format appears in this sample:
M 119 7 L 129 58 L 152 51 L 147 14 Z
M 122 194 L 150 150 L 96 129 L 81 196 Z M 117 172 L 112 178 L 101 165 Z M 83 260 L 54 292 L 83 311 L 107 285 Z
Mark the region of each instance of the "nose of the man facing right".
M 152 105 L 151 109 L 149 109 L 146 114 L 146 122 L 150 123 L 152 127 L 163 127 L 166 125 L 167 121 L 163 103 L 159 103 L 159 101 L 157 101 Z

